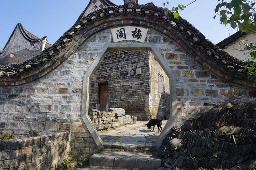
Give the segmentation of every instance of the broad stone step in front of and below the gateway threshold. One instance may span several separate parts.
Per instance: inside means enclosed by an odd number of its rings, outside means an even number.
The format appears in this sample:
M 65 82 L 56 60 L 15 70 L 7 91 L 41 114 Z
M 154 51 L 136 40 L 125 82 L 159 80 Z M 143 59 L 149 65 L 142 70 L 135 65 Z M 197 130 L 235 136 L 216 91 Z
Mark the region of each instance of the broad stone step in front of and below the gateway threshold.
M 161 159 L 150 157 L 151 152 L 102 152 L 90 157 L 91 166 L 155 169 Z

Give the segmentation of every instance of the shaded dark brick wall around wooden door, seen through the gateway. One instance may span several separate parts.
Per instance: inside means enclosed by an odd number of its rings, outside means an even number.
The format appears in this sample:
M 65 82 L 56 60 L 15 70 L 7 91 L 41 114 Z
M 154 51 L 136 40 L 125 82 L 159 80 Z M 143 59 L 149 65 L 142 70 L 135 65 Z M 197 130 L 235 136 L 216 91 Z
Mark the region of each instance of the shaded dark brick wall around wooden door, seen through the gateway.
M 96 109 L 99 103 L 98 84 L 108 83 L 109 108 L 119 107 L 125 110 L 126 115 L 149 120 L 149 113 L 144 109 L 149 96 L 148 57 L 148 51 L 109 52 L 91 77 L 90 107 Z M 130 74 L 136 66 L 142 72 L 138 79 Z

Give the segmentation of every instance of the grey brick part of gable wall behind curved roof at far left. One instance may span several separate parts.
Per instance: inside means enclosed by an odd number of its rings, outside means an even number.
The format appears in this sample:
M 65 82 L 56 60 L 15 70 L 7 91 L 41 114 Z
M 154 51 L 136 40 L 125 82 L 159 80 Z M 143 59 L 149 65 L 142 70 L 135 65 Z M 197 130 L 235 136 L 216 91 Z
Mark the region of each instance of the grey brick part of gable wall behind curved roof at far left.
M 20 51 L 17 51 L 16 53 L 11 53 L 14 55 L 13 58 L 9 57 L 9 54 L 4 56 L 4 58 L 1 60 L 0 65 L 9 65 L 9 64 L 16 64 L 16 63 L 22 63 L 24 61 L 27 61 L 28 59 L 31 59 L 35 56 L 37 56 L 39 53 L 42 52 L 42 46 L 39 50 L 29 50 L 27 48 L 22 49 Z M 23 54 L 23 55 L 22 55 Z

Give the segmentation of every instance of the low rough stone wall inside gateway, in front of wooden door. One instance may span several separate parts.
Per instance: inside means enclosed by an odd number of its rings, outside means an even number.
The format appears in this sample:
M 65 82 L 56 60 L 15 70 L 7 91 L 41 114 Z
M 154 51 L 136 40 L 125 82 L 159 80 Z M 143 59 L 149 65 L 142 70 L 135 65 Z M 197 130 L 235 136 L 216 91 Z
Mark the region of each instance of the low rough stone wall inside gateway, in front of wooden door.
M 122 108 L 109 109 L 110 111 L 100 111 L 89 108 L 88 116 L 97 130 L 116 127 L 120 124 L 136 123 L 137 117 L 125 115 Z

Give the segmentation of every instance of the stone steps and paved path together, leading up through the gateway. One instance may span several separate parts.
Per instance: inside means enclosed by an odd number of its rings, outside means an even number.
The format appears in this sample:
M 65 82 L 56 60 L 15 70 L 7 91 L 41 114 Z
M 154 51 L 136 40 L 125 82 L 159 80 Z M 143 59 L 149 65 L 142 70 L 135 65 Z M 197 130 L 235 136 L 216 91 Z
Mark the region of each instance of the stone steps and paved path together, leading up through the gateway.
M 162 127 L 166 122 L 163 121 Z M 105 149 L 90 157 L 89 167 L 78 168 L 78 170 L 97 170 L 95 168 L 98 167 L 159 168 L 161 159 L 153 157 L 152 150 L 160 133 L 157 133 L 156 129 L 155 131 L 147 130 L 145 124 L 147 121 L 137 121 L 134 125 L 100 133 Z

